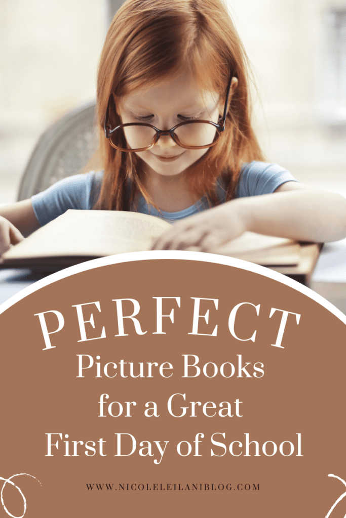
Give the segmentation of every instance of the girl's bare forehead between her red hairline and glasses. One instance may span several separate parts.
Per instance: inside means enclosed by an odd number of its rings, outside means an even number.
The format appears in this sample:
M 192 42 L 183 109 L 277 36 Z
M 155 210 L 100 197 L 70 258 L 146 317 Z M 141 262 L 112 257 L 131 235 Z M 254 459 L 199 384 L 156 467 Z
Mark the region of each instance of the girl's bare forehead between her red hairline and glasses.
M 120 105 L 140 109 L 210 107 L 219 95 L 201 89 L 188 71 L 136 89 L 120 99 Z

